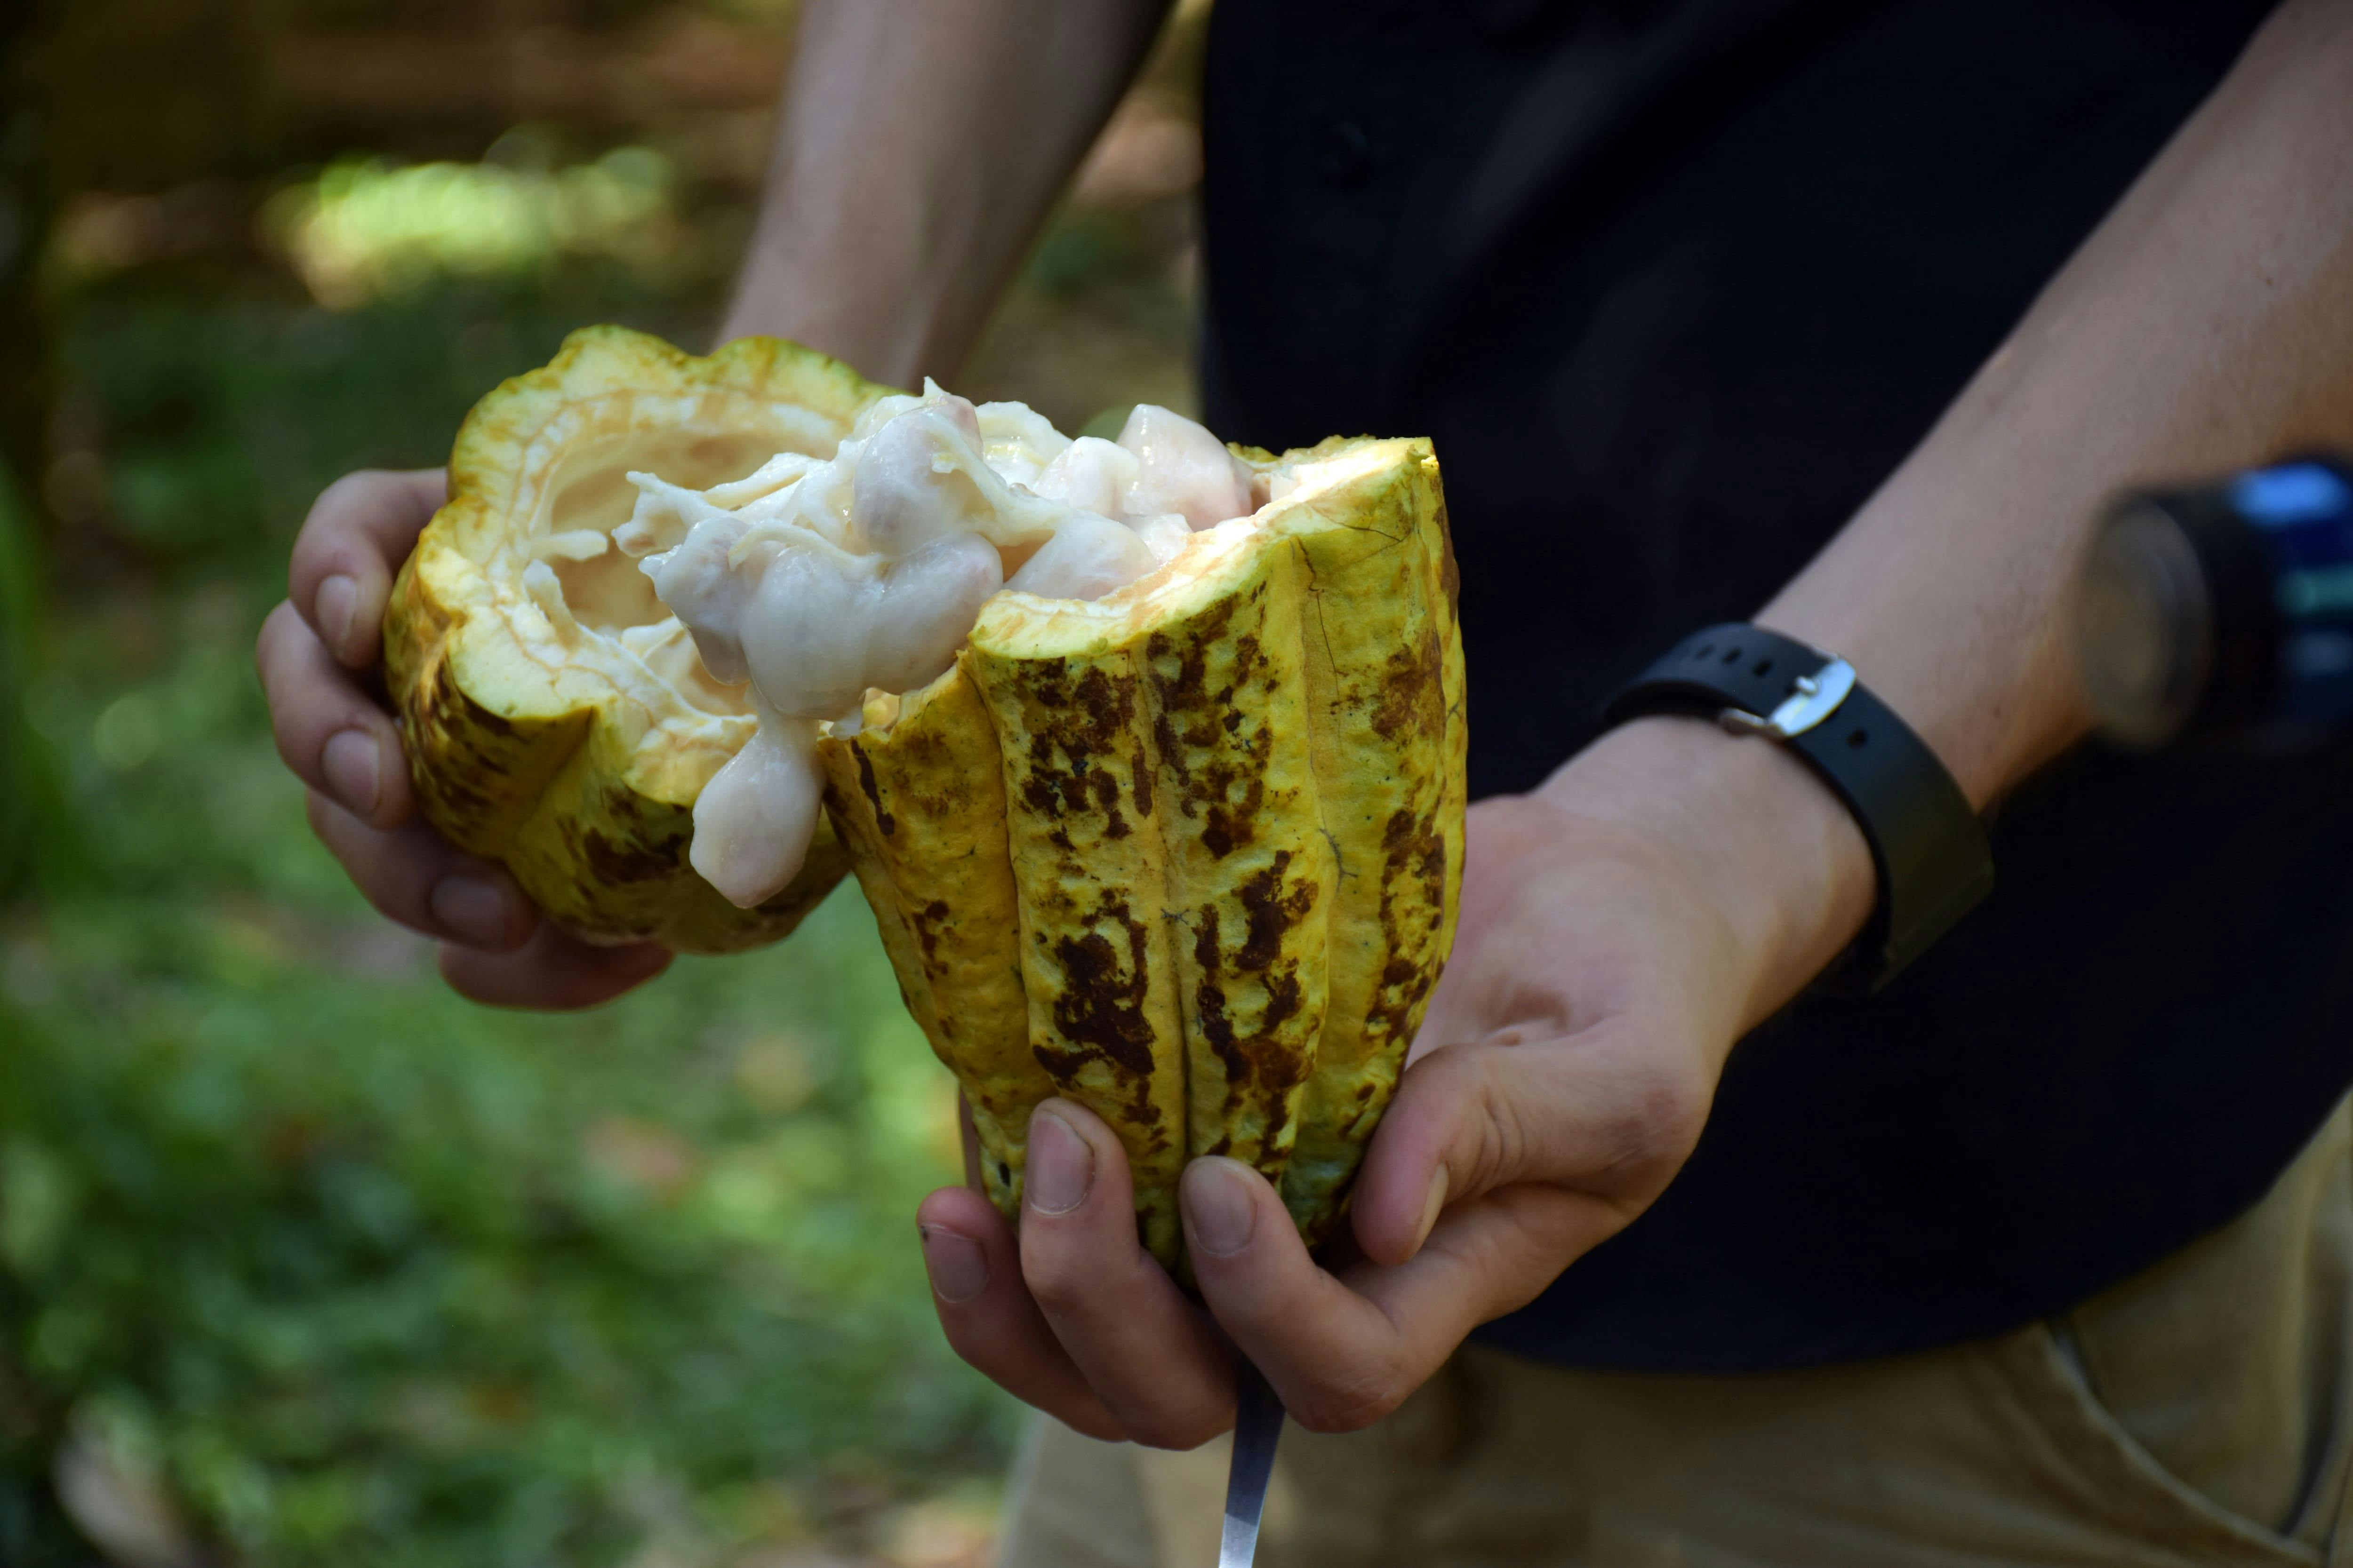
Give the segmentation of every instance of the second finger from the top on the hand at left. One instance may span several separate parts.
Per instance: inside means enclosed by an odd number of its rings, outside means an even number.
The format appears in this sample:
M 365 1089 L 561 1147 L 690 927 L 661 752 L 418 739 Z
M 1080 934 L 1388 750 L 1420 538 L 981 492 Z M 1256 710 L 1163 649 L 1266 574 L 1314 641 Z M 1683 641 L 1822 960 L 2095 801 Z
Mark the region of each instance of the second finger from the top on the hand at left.
M 280 602 L 254 639 L 271 736 L 294 776 L 372 827 L 398 827 L 414 797 L 400 731 Z

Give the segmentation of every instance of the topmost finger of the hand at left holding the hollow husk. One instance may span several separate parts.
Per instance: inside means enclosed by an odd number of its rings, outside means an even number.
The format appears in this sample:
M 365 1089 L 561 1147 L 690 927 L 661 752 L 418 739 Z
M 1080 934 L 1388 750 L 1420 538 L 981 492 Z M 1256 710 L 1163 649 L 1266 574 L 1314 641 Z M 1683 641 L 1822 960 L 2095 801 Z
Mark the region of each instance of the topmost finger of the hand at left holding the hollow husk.
M 336 663 L 365 670 L 376 661 L 393 574 L 447 489 L 440 468 L 372 468 L 344 475 L 311 503 L 287 564 L 287 597 Z

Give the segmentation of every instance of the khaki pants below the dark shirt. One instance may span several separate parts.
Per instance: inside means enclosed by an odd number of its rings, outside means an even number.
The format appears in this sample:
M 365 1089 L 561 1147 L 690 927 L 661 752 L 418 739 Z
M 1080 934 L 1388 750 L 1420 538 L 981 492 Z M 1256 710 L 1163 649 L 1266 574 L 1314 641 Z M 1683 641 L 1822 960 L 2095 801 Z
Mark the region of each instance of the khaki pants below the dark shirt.
M 2353 1566 L 2353 1112 L 2249 1213 L 2000 1340 L 1805 1373 L 1464 1349 L 1386 1422 L 1292 1427 L 1264 1568 Z M 1005 1568 L 1212 1568 L 1226 1443 L 1042 1422 Z

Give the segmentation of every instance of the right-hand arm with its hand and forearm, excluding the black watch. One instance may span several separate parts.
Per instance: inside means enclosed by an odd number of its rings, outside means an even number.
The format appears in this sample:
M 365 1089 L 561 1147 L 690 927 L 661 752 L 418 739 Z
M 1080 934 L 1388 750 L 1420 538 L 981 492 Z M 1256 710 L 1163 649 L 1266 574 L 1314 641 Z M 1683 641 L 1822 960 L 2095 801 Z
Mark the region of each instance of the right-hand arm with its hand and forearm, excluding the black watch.
M 1758 616 L 1838 649 L 1984 806 L 2085 729 L 2064 602 L 2122 482 L 2353 428 L 2353 0 L 2289 0 L 1927 442 Z M 1198 1159 L 1202 1307 L 1134 1239 L 1120 1145 L 1049 1103 L 1019 1239 L 922 1208 L 951 1342 L 1101 1436 L 1231 1420 L 1231 1349 L 1311 1427 L 1393 1408 L 1478 1321 L 1624 1227 L 1697 1138 L 1734 1039 L 1871 907 L 1852 818 L 1793 757 L 1619 729 L 1475 811 L 1454 961 L 1318 1269 L 1254 1173 Z M 1435 1220 L 1431 1218 L 1435 1215 Z

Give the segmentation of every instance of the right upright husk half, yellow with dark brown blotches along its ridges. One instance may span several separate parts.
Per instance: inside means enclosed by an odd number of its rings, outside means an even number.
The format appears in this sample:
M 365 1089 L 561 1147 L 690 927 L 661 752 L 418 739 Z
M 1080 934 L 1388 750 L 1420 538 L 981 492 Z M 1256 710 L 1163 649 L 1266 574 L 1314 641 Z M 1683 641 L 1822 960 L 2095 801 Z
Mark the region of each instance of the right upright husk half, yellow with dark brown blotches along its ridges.
M 821 743 L 908 1009 L 1016 1215 L 1031 1110 L 1099 1112 L 1146 1244 L 1231 1154 L 1346 1211 L 1454 938 L 1464 663 L 1421 440 L 1245 458 L 1249 522 L 1082 604 L 1005 592 L 958 665 Z

